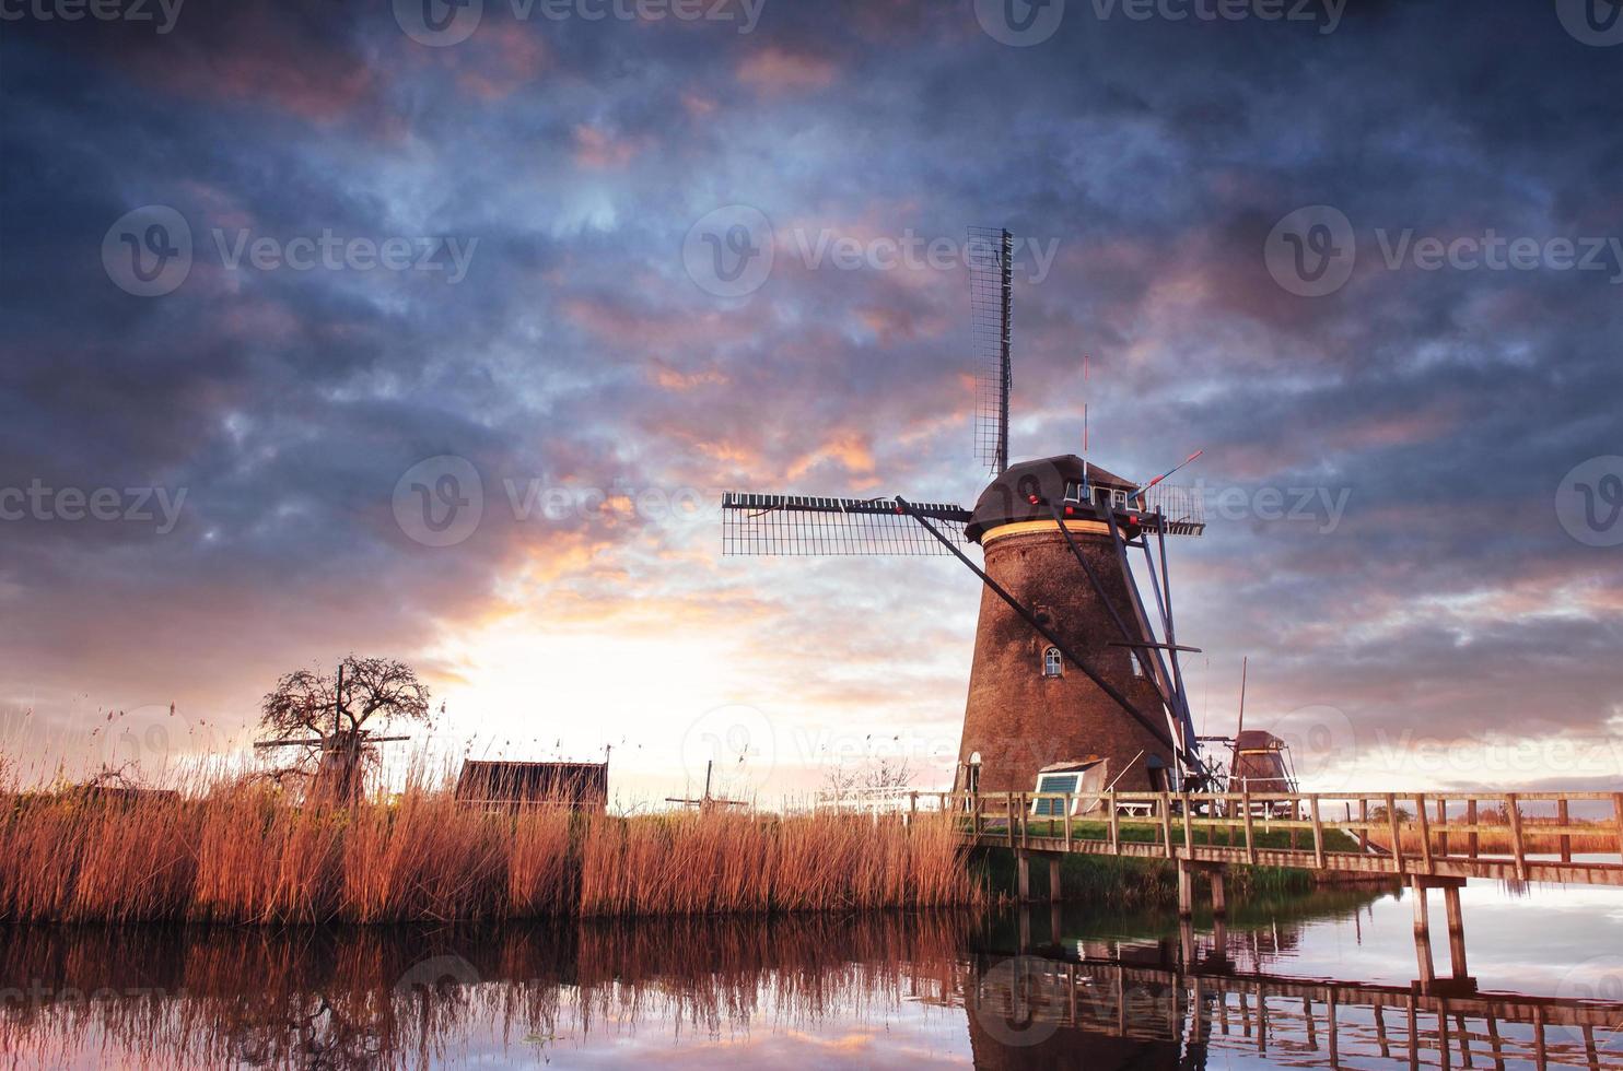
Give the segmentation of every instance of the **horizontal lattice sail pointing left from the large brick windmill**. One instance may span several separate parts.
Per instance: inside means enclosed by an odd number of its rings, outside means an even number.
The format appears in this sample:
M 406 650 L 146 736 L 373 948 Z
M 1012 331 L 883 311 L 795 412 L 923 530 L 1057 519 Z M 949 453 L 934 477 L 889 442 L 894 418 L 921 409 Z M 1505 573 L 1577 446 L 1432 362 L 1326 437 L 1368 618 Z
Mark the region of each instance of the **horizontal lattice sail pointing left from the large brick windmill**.
M 948 503 L 915 505 L 938 531 L 969 545 L 969 510 Z M 951 553 L 896 508 L 894 498 L 812 498 L 727 492 L 721 501 L 724 555 L 899 555 Z

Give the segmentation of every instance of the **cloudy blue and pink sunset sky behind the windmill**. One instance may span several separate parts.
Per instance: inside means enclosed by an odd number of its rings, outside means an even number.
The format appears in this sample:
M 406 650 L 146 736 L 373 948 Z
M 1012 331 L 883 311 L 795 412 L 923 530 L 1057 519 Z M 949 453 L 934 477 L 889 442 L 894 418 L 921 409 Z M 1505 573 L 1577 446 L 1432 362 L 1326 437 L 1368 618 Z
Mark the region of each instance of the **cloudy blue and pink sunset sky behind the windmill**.
M 971 503 L 992 226 L 1013 456 L 1206 451 L 1203 732 L 1248 657 L 1310 787 L 1612 787 L 1617 15 L 0 0 L 0 740 L 240 751 L 355 652 L 628 805 L 946 787 L 975 578 L 717 500 Z

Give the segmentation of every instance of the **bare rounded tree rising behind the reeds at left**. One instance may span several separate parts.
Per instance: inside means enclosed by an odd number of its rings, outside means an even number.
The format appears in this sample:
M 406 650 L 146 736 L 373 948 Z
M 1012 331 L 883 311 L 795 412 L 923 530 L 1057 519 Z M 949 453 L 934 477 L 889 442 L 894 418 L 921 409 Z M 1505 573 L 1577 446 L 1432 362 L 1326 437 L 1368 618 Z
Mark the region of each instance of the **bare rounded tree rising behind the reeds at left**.
M 430 724 L 428 688 L 394 659 L 344 659 L 336 673 L 294 670 L 265 696 L 260 746 L 302 748 L 292 766 L 271 771 L 313 776 L 313 794 L 349 802 L 360 795 L 362 761 L 375 755 L 386 724 Z

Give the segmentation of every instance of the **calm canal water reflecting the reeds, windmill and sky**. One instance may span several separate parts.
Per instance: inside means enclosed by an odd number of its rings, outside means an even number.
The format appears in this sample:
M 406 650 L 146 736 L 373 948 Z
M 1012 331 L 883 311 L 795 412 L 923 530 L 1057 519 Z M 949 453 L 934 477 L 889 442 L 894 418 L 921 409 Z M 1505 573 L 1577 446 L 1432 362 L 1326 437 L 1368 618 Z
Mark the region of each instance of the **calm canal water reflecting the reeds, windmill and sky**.
M 1407 894 L 1211 918 L 0 930 L 18 1068 L 1623 1068 L 1623 891 L 1472 884 L 1420 993 Z M 1449 962 L 1438 940 L 1438 962 Z M 1613 1003 L 1605 1003 L 1607 998 Z

